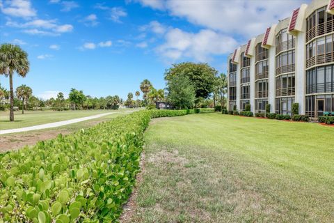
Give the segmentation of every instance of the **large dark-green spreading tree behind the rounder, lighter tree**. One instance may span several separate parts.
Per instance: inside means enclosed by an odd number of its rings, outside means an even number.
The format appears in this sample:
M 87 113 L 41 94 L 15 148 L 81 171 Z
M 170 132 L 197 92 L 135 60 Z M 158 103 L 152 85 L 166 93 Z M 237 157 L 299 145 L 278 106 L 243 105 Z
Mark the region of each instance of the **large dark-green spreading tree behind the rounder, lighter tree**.
M 214 91 L 215 76 L 218 71 L 207 63 L 176 63 L 165 72 L 166 81 L 178 75 L 185 75 L 189 78 L 196 93 L 195 103 L 200 98 L 207 98 Z

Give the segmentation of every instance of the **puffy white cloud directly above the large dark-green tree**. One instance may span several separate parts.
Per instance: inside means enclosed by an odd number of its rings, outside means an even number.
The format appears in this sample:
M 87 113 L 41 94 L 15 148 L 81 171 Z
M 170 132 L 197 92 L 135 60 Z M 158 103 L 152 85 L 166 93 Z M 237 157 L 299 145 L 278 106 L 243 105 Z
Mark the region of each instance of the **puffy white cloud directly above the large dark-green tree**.
M 208 62 L 213 55 L 227 54 L 236 46 L 234 38 L 210 29 L 202 29 L 198 33 L 170 29 L 166 33 L 165 43 L 156 50 L 160 56 L 172 61 L 187 57 Z

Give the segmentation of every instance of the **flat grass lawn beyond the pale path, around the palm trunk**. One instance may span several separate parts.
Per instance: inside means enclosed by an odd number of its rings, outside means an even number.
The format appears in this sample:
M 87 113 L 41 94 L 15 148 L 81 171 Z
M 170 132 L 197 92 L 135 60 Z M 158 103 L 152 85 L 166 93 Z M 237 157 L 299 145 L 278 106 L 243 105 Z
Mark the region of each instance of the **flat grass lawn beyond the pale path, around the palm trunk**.
M 12 128 L 24 128 L 32 125 L 40 125 L 45 123 L 52 123 L 56 121 L 65 121 L 73 118 L 82 118 L 86 116 L 93 116 L 95 114 L 102 114 L 106 112 L 125 112 L 127 109 L 113 110 L 84 110 L 84 111 L 27 111 L 15 112 L 15 121 L 9 121 L 9 112 L 0 112 L 0 130 Z

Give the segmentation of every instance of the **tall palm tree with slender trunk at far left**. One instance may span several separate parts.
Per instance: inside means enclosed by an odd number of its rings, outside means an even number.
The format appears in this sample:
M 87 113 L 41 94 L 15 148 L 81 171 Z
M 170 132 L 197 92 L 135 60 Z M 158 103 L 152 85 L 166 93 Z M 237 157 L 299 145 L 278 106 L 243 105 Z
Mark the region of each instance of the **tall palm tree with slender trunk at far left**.
M 14 121 L 14 91 L 13 74 L 26 77 L 29 72 L 28 54 L 18 45 L 5 43 L 0 46 L 0 74 L 9 76 L 10 86 L 10 115 L 9 120 Z

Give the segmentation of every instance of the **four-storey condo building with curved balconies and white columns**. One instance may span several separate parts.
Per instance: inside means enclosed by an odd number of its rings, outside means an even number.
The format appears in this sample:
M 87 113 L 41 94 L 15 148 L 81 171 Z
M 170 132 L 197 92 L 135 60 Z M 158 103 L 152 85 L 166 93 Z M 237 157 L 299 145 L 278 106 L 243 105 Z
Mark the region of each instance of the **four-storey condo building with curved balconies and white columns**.
M 228 109 L 334 112 L 334 0 L 302 4 L 228 57 Z

